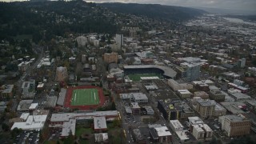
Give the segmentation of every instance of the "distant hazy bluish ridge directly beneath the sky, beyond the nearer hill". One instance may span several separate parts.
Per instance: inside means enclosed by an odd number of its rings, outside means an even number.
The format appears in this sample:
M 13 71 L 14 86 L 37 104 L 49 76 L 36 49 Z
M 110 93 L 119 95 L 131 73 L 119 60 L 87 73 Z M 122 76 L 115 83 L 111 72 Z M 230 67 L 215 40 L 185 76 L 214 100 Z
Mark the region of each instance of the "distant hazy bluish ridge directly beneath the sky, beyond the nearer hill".
M 204 10 L 181 6 L 163 6 L 158 4 L 137 3 L 99 3 L 99 6 L 114 12 L 134 15 L 144 15 L 150 18 L 159 18 L 174 21 L 184 21 L 206 13 Z

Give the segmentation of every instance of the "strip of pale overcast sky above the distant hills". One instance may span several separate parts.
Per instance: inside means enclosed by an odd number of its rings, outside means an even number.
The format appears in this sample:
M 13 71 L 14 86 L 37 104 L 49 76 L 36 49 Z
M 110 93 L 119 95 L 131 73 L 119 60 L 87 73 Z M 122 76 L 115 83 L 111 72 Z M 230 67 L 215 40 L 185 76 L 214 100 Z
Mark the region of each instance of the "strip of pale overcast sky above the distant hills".
M 91 2 L 158 3 L 172 6 L 214 7 L 232 10 L 256 10 L 256 0 L 90 0 Z

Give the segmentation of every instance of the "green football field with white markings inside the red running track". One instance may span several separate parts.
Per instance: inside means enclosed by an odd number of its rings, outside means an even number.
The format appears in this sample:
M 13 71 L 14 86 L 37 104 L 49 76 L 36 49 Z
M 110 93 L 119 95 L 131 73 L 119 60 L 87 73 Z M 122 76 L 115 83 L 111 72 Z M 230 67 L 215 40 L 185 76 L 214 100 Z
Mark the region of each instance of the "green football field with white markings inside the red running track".
M 78 89 L 73 90 L 71 106 L 86 106 L 98 105 L 98 90 L 97 89 Z

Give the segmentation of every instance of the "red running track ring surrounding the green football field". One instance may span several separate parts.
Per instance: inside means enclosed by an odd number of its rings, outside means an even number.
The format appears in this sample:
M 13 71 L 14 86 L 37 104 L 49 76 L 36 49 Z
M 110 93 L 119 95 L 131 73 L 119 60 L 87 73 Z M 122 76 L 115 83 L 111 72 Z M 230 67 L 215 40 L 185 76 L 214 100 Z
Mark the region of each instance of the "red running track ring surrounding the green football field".
M 86 105 L 86 106 L 71 106 L 71 98 L 72 98 L 73 90 L 77 90 L 77 89 L 97 89 L 98 97 L 99 97 L 99 104 L 98 105 Z M 98 86 L 75 86 L 75 87 L 72 87 L 72 86 L 70 86 L 66 90 L 64 107 L 69 107 L 70 109 L 79 109 L 79 110 L 94 110 L 94 109 L 97 109 L 98 107 L 103 106 L 104 103 L 105 103 L 105 96 L 104 96 L 104 93 L 103 93 L 103 90 L 101 87 L 98 87 Z

